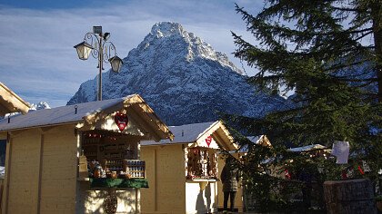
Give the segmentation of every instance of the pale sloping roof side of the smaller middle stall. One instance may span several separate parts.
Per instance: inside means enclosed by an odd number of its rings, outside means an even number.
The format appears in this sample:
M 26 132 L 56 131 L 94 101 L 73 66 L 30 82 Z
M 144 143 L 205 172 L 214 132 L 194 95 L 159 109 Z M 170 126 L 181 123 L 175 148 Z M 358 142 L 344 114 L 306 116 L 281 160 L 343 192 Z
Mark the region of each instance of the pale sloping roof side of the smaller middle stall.
M 201 122 L 181 126 L 169 126 L 168 128 L 175 136 L 174 141 L 162 140 L 159 141 L 159 143 L 175 144 L 194 142 L 217 122 Z M 158 143 L 156 141 L 142 141 L 141 145 L 158 145 Z

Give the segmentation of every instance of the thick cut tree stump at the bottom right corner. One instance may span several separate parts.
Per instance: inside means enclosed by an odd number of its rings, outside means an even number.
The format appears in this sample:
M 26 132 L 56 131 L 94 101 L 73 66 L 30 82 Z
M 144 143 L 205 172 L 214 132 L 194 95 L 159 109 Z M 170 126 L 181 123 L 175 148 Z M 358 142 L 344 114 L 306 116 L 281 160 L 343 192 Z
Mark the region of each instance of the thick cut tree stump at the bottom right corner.
M 324 194 L 328 214 L 377 214 L 370 180 L 327 180 Z

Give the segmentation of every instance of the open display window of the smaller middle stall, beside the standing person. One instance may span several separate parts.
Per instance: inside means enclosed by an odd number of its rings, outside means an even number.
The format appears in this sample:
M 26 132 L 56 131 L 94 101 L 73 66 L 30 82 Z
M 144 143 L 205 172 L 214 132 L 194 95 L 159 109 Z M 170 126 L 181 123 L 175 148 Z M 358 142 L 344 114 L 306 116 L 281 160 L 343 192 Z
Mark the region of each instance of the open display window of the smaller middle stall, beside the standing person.
M 216 153 L 207 148 L 187 150 L 187 179 L 217 179 Z

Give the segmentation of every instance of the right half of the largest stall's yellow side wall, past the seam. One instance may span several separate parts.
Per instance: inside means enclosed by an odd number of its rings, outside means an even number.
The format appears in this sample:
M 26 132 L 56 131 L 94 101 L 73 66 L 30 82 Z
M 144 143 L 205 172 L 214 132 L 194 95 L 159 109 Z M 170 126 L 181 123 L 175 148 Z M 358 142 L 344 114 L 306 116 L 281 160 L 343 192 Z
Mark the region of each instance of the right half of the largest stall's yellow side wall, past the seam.
M 75 213 L 76 155 L 74 127 L 45 131 L 40 213 Z

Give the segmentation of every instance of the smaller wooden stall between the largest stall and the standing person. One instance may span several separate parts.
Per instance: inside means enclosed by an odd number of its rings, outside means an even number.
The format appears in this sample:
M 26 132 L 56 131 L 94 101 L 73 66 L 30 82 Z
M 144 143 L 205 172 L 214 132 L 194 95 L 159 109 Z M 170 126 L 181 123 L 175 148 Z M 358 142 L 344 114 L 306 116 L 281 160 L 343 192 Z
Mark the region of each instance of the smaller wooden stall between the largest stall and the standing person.
M 143 141 L 150 189 L 141 191 L 142 213 L 209 213 L 217 211 L 219 149 L 236 149 L 222 122 L 170 127 L 175 140 Z

